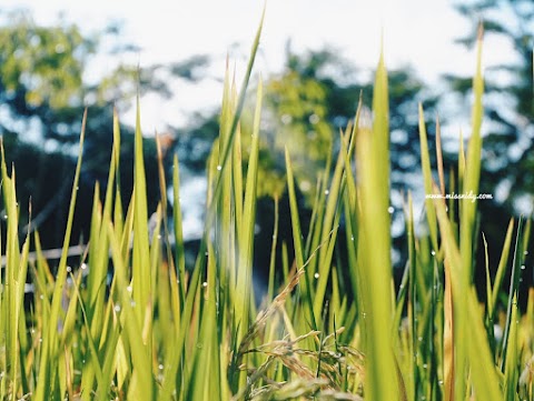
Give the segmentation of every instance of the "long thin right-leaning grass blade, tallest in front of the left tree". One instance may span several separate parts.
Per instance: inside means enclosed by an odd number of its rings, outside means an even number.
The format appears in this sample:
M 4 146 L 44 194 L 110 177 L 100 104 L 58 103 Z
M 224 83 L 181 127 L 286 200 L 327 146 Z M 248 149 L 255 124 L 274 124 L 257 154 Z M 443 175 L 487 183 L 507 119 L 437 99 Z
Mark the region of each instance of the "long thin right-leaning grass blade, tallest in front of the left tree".
M 72 230 L 72 222 L 75 218 L 75 207 L 78 194 L 78 181 L 80 178 L 81 161 L 83 153 L 83 138 L 86 132 L 87 110 L 83 113 L 83 120 L 81 123 L 80 144 L 78 152 L 78 162 L 76 164 L 72 192 L 70 196 L 69 214 L 67 219 L 67 229 L 65 232 L 63 248 L 61 252 L 61 259 L 58 265 L 58 274 L 56 277 L 56 284 L 52 295 L 52 304 L 50 310 L 49 327 L 47 332 L 43 333 L 43 343 L 41 349 L 41 359 L 39 362 L 39 378 L 33 393 L 36 401 L 44 401 L 50 394 L 50 385 L 52 385 L 52 377 L 57 368 L 56 355 L 58 352 L 58 322 L 61 309 L 61 298 L 67 279 L 67 257 L 68 248 L 70 243 L 70 233 Z

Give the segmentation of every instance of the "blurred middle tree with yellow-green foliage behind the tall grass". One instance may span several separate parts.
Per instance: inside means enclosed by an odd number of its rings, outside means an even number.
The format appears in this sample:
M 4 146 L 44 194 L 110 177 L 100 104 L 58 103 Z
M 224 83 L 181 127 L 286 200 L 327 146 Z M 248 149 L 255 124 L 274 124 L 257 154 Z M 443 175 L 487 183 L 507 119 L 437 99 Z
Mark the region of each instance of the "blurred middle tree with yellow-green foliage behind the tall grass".
M 259 230 L 256 233 L 256 241 L 261 245 L 255 251 L 255 264 L 264 272 L 267 271 L 270 252 L 273 198 L 280 200 L 278 244 L 285 241 L 291 252 L 293 234 L 285 191 L 285 147 L 290 152 L 300 203 L 300 223 L 306 231 L 318 174 L 325 169 L 327 159 L 336 154 L 339 130 L 354 119 L 360 94 L 364 104 L 372 104 L 372 71 L 358 70 L 332 50 L 300 54 L 289 47 L 281 71 L 265 79 L 258 172 Z M 421 187 L 421 181 L 413 180 L 419 169 L 417 102 L 425 100 L 425 109 L 432 112 L 436 99 L 423 91 L 423 83 L 409 68 L 389 72 L 389 92 L 394 235 L 399 255 L 396 262 L 402 265 L 406 252 L 403 248 L 402 193 Z M 251 110 L 245 110 L 241 121 L 245 158 L 248 154 L 251 114 Z M 205 160 L 218 133 L 218 117 L 211 114 L 196 121 L 194 127 L 180 131 L 176 146 L 180 162 L 191 171 L 199 172 L 201 169 L 204 173 Z M 339 250 L 339 254 L 343 258 L 344 250 Z

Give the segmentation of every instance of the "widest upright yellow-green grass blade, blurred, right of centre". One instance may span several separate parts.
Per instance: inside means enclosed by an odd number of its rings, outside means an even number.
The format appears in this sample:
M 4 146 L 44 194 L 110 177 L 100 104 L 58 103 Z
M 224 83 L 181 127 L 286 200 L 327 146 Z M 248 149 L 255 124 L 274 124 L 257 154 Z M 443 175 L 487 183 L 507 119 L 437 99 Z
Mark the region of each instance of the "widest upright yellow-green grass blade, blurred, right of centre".
M 359 207 L 358 264 L 365 285 L 365 394 L 370 400 L 397 400 L 393 353 L 393 292 L 390 262 L 389 128 L 387 72 L 383 54 L 373 96 L 374 121 L 360 118 L 357 133 Z

